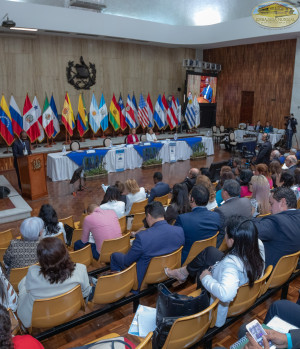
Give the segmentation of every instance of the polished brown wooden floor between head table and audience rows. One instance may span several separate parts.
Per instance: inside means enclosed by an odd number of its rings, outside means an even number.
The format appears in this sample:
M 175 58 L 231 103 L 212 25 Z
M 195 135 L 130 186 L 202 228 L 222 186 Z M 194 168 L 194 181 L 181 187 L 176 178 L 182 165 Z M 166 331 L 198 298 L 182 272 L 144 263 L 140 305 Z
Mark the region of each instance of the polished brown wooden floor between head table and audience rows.
M 90 203 L 99 204 L 103 198 L 103 190 L 101 184 L 113 184 L 116 180 L 125 181 L 128 178 L 135 178 L 140 186 L 151 188 L 153 186 L 152 176 L 155 171 L 162 171 L 164 181 L 173 186 L 175 183 L 182 181 L 191 167 L 209 167 L 212 162 L 229 159 L 230 153 L 224 150 L 219 150 L 218 146 L 215 147 L 215 155 L 210 156 L 207 159 L 199 161 L 183 161 L 173 164 L 164 164 L 154 170 L 128 170 L 122 173 L 110 173 L 104 177 L 103 181 L 87 182 L 87 189 L 83 192 L 79 192 L 78 195 L 73 196 L 72 185 L 68 181 L 62 182 L 47 182 L 49 196 L 44 199 L 30 201 L 28 204 L 32 207 L 32 215 L 38 215 L 40 206 L 44 203 L 50 203 L 57 211 L 59 218 L 64 218 L 69 215 L 73 215 L 74 219 L 79 219 L 83 210 Z M 6 171 L 1 174 L 11 182 L 14 187 L 17 187 L 17 177 L 14 171 Z M 6 223 L 0 225 L 0 231 L 8 228 L 13 228 L 14 235 L 19 235 L 19 227 L 22 221 Z M 194 285 L 181 286 L 176 291 L 188 294 L 194 289 Z M 288 299 L 296 301 L 298 298 L 298 290 L 300 287 L 300 281 L 295 280 L 289 288 Z M 213 346 L 229 346 L 237 340 L 237 333 L 240 325 L 244 322 L 248 322 L 251 319 L 257 318 L 259 321 L 263 321 L 266 311 L 269 305 L 280 297 L 279 294 L 268 300 L 264 304 L 257 307 L 254 311 L 249 313 L 244 319 L 238 321 L 228 329 L 214 338 Z M 155 307 L 156 295 L 142 298 L 141 304 Z M 56 335 L 48 340 L 43 341 L 43 345 L 46 349 L 62 349 L 72 348 L 86 344 L 98 337 L 105 334 L 116 332 L 120 335 L 127 335 L 133 342 L 138 343 L 137 337 L 129 336 L 127 334 L 130 323 L 133 318 L 132 305 L 126 305 L 120 309 L 117 309 L 110 314 L 101 316 L 94 320 L 91 320 L 83 325 L 77 326 L 71 330 L 65 331 L 59 335 Z

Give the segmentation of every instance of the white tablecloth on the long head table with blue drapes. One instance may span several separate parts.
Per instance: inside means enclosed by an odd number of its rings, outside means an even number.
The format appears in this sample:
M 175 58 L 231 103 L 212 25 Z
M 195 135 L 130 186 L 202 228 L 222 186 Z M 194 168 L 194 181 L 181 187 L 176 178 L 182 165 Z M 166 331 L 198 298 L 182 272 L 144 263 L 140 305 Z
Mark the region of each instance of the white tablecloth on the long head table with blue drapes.
M 206 154 L 214 154 L 214 145 L 211 137 L 202 137 Z M 116 172 L 116 150 L 119 147 L 110 149 L 104 157 L 104 166 L 108 172 Z M 133 147 L 124 147 L 125 150 L 125 170 L 132 170 L 141 167 L 143 163 L 142 157 Z M 176 161 L 188 160 L 192 155 L 192 149 L 184 141 L 176 142 Z M 164 143 L 159 152 L 162 163 L 170 162 L 169 143 Z M 47 156 L 47 176 L 55 181 L 70 180 L 78 165 L 62 153 L 49 153 Z

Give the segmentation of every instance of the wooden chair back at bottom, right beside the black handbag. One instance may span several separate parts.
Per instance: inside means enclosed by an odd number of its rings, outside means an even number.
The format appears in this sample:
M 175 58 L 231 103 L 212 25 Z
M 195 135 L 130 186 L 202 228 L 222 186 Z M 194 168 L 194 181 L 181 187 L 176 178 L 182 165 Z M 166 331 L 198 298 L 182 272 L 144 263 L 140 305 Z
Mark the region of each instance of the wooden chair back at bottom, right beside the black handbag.
M 172 325 L 163 349 L 190 348 L 204 336 L 211 324 L 212 313 L 216 311 L 216 299 L 200 313 L 177 319 Z

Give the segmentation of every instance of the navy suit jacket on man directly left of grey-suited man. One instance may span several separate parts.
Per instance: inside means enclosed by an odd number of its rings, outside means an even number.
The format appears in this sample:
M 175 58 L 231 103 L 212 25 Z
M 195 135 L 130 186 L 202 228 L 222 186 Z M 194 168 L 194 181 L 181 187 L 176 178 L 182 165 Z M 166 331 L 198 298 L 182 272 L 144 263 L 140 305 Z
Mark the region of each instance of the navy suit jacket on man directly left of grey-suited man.
M 184 230 L 185 244 L 181 262 L 184 263 L 195 241 L 214 236 L 221 228 L 220 216 L 206 207 L 196 207 L 192 212 L 180 214 L 175 222 Z

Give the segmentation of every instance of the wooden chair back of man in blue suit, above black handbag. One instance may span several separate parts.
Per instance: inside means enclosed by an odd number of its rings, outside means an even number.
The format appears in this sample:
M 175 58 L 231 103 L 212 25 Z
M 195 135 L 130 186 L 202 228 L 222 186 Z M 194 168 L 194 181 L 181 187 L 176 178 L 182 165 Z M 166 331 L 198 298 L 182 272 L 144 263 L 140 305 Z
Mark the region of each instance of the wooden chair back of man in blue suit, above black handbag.
M 141 290 L 147 288 L 149 284 L 156 284 L 168 279 L 165 274 L 165 268 L 177 269 L 181 265 L 181 251 L 183 246 L 181 246 L 178 250 L 163 255 L 157 256 L 151 259 L 144 279 L 141 284 Z M 135 288 L 137 288 L 137 284 Z

